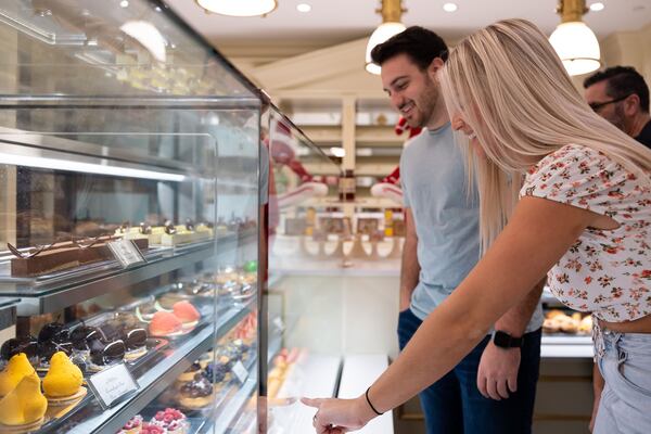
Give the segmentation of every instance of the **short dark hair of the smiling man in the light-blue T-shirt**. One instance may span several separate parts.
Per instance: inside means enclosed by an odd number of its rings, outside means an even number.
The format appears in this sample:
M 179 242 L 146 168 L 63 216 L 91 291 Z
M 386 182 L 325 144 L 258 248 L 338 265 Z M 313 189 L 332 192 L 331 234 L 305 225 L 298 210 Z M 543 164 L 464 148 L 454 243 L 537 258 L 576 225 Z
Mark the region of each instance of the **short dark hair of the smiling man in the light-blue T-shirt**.
M 435 58 L 445 62 L 448 52 L 441 36 L 426 28 L 411 26 L 375 46 L 371 51 L 371 60 L 382 66 L 399 54 L 407 54 L 421 71 L 425 71 Z

